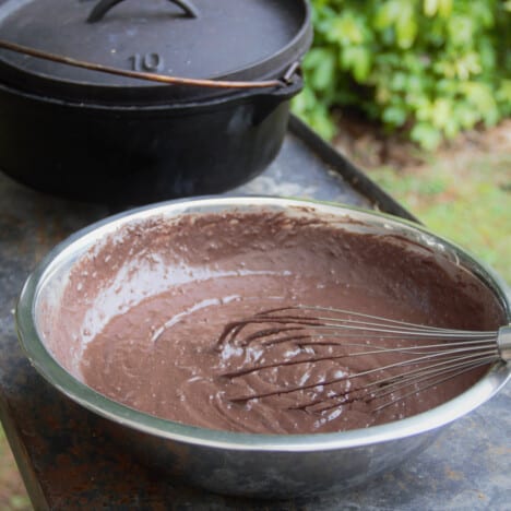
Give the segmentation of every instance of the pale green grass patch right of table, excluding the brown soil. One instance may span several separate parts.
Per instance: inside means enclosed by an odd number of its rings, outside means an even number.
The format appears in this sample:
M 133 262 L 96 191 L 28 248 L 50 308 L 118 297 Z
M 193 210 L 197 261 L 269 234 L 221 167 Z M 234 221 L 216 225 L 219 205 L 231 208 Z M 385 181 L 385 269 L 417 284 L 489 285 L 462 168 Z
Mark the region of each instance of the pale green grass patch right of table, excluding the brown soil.
M 511 284 L 511 148 L 430 157 L 414 173 L 384 166 L 370 176 L 431 230 Z

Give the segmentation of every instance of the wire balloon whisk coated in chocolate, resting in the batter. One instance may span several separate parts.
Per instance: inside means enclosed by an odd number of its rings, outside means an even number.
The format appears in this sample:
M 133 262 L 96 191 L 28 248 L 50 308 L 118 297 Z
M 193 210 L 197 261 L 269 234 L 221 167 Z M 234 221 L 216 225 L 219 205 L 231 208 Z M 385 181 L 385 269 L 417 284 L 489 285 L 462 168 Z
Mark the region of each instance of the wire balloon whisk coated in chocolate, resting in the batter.
M 286 352 L 292 356 L 272 359 L 261 355 L 278 345 L 293 346 Z M 310 367 L 320 361 L 343 365 L 344 359 L 352 364 L 363 356 L 388 357 L 378 367 L 229 397 L 233 403 L 248 403 L 309 392 L 305 402 L 292 408 L 323 413 L 364 402 L 371 403 L 372 412 L 379 412 L 464 372 L 498 360 L 511 360 L 511 325 L 486 332 L 466 331 L 344 309 L 294 306 L 264 310 L 227 324 L 218 338 L 218 348 L 246 352 L 248 364 L 222 375 L 230 380 L 288 366 Z

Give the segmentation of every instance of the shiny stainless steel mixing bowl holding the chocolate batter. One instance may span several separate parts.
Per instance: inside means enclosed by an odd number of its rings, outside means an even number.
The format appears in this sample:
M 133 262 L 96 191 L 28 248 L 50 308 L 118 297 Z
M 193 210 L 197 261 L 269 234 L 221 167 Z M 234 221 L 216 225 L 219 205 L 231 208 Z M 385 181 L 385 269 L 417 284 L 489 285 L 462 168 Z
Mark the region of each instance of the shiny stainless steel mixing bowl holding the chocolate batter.
M 306 206 L 306 207 L 304 207 Z M 388 215 L 311 201 L 215 198 L 173 201 L 129 211 L 80 230 L 57 246 L 28 277 L 16 309 L 16 326 L 33 366 L 60 392 L 94 414 L 117 440 L 143 461 L 206 489 L 263 498 L 333 492 L 395 467 L 426 448 L 441 428 L 485 403 L 511 378 L 496 364 L 475 385 L 448 403 L 403 420 L 367 429 L 316 435 L 251 435 L 203 429 L 161 419 L 102 395 L 66 370 L 45 344 L 38 318 L 51 307 L 73 264 L 98 240 L 132 222 L 189 213 L 276 211 L 334 215 L 371 231 L 393 233 L 433 248 L 464 266 L 495 294 L 511 321 L 504 285 L 459 247 L 427 229 Z M 41 312 L 43 311 L 43 312 Z

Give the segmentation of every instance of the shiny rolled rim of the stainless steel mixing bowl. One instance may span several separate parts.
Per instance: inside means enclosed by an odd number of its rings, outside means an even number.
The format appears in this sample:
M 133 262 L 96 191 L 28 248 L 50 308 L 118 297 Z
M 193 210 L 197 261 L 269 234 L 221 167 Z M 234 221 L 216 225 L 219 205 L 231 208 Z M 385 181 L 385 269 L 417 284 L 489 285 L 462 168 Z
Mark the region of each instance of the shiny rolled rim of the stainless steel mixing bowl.
M 32 366 L 67 397 L 120 426 L 154 437 L 199 447 L 265 452 L 310 452 L 358 448 L 428 432 L 477 408 L 511 379 L 511 367 L 504 363 L 497 363 L 478 382 L 456 397 L 427 412 L 379 426 L 328 433 L 248 433 L 176 423 L 120 404 L 78 380 L 46 348 L 37 332 L 35 321 L 37 299 L 45 283 L 51 278 L 60 264 L 68 261 L 69 254 L 73 251 L 81 250 L 80 254 L 82 254 L 93 245 L 94 240 L 97 241 L 98 235 L 114 231 L 127 223 L 161 214 L 174 218 L 182 214 L 214 212 L 215 209 L 223 211 L 226 207 L 251 209 L 261 206 L 283 210 L 306 206 L 320 213 L 333 213 L 340 217 L 348 218 L 355 215 L 357 218 L 367 218 L 373 222 L 378 219 L 378 222 L 390 226 L 412 228 L 418 235 L 441 243 L 444 249 L 455 254 L 456 260 L 462 261 L 463 265 L 470 266 L 500 300 L 507 321 L 511 322 L 511 305 L 506 283 L 464 249 L 435 235 L 421 225 L 381 212 L 324 201 L 249 195 L 199 197 L 147 204 L 108 216 L 75 231 L 48 252 L 25 281 L 15 309 L 15 328 L 19 341 Z

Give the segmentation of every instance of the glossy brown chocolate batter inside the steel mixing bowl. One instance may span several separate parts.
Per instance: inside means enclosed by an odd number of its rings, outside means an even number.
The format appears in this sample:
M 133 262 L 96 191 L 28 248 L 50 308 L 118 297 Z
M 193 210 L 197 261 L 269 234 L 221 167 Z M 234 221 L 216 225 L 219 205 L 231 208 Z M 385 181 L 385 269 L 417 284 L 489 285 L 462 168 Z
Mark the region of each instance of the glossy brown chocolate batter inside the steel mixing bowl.
M 491 330 L 503 321 L 491 292 L 438 252 L 392 231 L 318 219 L 307 211 L 132 225 L 76 264 L 61 304 L 60 314 L 44 325 L 48 344 L 92 388 L 171 420 L 261 433 L 340 431 L 396 420 L 460 394 L 482 371 L 378 413 L 373 403 L 360 402 L 300 409 L 304 400 L 332 390 L 321 382 L 381 366 L 381 358 L 326 359 L 228 378 L 222 375 L 247 365 L 304 356 L 293 342 L 272 348 L 218 345 L 233 320 L 307 304 L 459 329 Z M 235 401 L 305 382 L 318 387 Z

